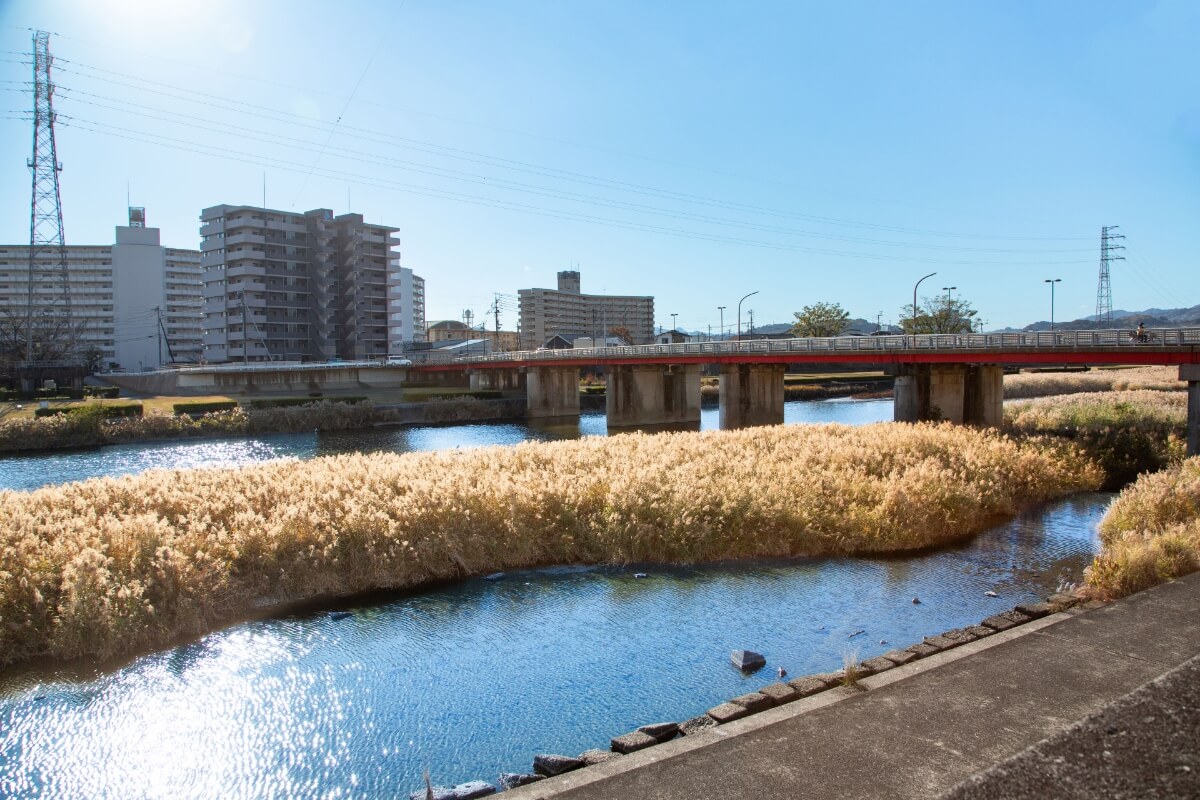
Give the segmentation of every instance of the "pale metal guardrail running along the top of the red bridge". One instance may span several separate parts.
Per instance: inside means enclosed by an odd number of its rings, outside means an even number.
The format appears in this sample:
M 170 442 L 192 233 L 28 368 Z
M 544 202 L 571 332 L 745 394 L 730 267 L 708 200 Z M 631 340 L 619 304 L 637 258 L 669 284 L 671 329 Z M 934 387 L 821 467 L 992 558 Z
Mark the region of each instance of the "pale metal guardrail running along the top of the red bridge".
M 917 336 L 836 336 L 832 338 L 684 342 L 628 347 L 518 350 L 473 356 L 438 357 L 430 353 L 418 363 L 496 363 L 571 361 L 662 355 L 739 355 L 790 353 L 902 353 L 913 350 L 1088 350 L 1146 347 L 1200 347 L 1200 327 L 1146 330 L 1037 331 L 1030 333 L 919 333 Z

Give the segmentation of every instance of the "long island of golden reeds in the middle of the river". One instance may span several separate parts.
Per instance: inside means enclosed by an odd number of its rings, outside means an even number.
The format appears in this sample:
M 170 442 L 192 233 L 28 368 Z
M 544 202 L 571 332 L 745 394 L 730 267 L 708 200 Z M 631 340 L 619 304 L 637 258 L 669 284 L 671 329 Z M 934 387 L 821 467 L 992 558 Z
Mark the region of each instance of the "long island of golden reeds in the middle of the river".
M 628 434 L 0 493 L 0 661 L 115 655 L 264 602 L 521 566 L 884 553 L 1099 471 L 1069 443 L 932 425 Z

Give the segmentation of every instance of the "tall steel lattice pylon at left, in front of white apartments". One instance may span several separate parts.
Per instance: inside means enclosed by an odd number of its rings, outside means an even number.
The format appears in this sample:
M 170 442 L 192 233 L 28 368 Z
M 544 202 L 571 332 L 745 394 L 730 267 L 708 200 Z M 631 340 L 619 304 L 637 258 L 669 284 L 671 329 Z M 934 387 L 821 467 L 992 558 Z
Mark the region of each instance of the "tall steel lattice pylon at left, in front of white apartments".
M 25 307 L 25 363 L 61 363 L 76 350 L 62 239 L 58 149 L 54 144 L 54 82 L 50 35 L 34 34 L 34 178 L 29 212 L 29 300 Z

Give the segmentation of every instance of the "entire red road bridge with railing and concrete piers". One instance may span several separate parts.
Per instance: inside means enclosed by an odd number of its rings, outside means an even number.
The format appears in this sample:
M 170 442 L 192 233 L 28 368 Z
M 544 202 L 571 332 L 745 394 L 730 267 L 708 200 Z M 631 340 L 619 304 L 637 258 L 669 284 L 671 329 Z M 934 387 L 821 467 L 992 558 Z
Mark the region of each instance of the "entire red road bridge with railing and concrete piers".
M 492 353 L 413 365 L 416 373 L 466 371 L 474 389 L 527 392 L 530 417 L 577 416 L 580 369 L 605 367 L 608 426 L 700 422 L 700 373 L 720 368 L 721 428 L 784 421 L 792 366 L 860 365 L 896 375 L 895 419 L 998 426 L 1006 367 L 1168 365 L 1188 381 L 1188 452 L 1200 452 L 1200 329 L 938 333 L 688 342 Z

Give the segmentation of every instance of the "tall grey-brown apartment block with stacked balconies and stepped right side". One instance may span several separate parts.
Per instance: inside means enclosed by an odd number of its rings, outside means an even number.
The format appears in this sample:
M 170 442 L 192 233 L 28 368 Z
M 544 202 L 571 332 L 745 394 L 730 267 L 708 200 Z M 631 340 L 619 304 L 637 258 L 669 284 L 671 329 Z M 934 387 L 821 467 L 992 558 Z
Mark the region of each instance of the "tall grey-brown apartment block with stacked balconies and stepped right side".
M 246 205 L 200 213 L 209 361 L 388 355 L 389 271 L 398 228 Z

